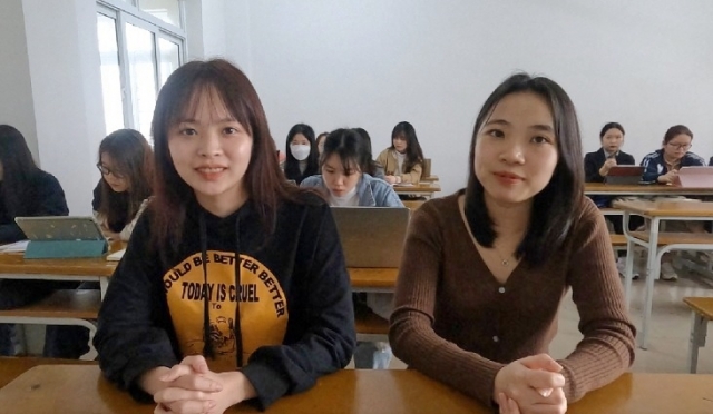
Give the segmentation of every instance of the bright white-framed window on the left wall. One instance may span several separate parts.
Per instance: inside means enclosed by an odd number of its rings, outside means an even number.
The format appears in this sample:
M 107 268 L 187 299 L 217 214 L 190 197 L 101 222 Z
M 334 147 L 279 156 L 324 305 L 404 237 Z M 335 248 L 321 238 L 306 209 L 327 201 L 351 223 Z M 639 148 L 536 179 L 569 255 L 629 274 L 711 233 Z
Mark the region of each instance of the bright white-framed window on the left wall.
M 107 134 L 150 137 L 158 90 L 185 56 L 179 0 L 100 0 L 97 34 Z

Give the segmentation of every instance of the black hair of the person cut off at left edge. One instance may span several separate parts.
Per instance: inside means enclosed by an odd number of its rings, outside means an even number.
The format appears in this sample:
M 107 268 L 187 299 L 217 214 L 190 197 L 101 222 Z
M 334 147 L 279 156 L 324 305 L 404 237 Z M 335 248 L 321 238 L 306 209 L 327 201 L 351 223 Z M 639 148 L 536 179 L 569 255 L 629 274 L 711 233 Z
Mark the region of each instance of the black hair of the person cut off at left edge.
M 32 178 L 39 168 L 22 134 L 9 125 L 0 125 L 0 162 L 2 198 L 8 216 L 27 216 L 32 203 Z

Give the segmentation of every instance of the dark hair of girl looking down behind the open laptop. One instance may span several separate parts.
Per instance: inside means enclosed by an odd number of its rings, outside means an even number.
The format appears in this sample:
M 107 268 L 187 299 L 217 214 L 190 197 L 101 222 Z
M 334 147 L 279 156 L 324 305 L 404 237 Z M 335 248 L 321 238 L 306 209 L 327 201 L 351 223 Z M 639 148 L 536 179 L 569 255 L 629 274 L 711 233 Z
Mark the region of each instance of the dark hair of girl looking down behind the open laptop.
M 361 172 L 373 174 L 371 171 L 371 154 L 367 148 L 367 142 L 354 129 L 335 129 L 326 136 L 320 168 L 332 155 L 340 158 L 344 172 L 359 169 Z

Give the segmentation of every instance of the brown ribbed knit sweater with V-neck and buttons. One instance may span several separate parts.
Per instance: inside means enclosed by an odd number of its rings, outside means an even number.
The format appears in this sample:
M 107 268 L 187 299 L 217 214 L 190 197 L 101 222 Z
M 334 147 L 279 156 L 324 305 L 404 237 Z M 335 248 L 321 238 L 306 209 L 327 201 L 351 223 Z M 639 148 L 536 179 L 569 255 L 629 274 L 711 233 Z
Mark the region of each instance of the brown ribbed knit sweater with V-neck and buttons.
M 634 361 L 635 328 L 596 206 L 584 198 L 563 248 L 538 267 L 520 262 L 501 285 L 461 218 L 461 194 L 413 213 L 389 332 L 394 355 L 489 405 L 502 366 L 548 353 L 559 305 L 572 287 L 584 338 L 559 361 L 567 401 L 626 371 Z

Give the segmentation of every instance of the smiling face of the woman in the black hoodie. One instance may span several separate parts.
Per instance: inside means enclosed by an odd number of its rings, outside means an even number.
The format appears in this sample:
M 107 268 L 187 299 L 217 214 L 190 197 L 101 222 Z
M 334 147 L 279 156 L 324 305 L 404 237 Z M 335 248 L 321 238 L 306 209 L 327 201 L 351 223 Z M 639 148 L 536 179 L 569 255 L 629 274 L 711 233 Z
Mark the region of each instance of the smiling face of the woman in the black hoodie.
M 176 171 L 209 211 L 235 209 L 246 199 L 245 172 L 253 137 L 229 114 L 216 91 L 203 91 L 194 114 L 168 131 L 168 149 Z M 232 213 L 232 211 L 231 211 Z

